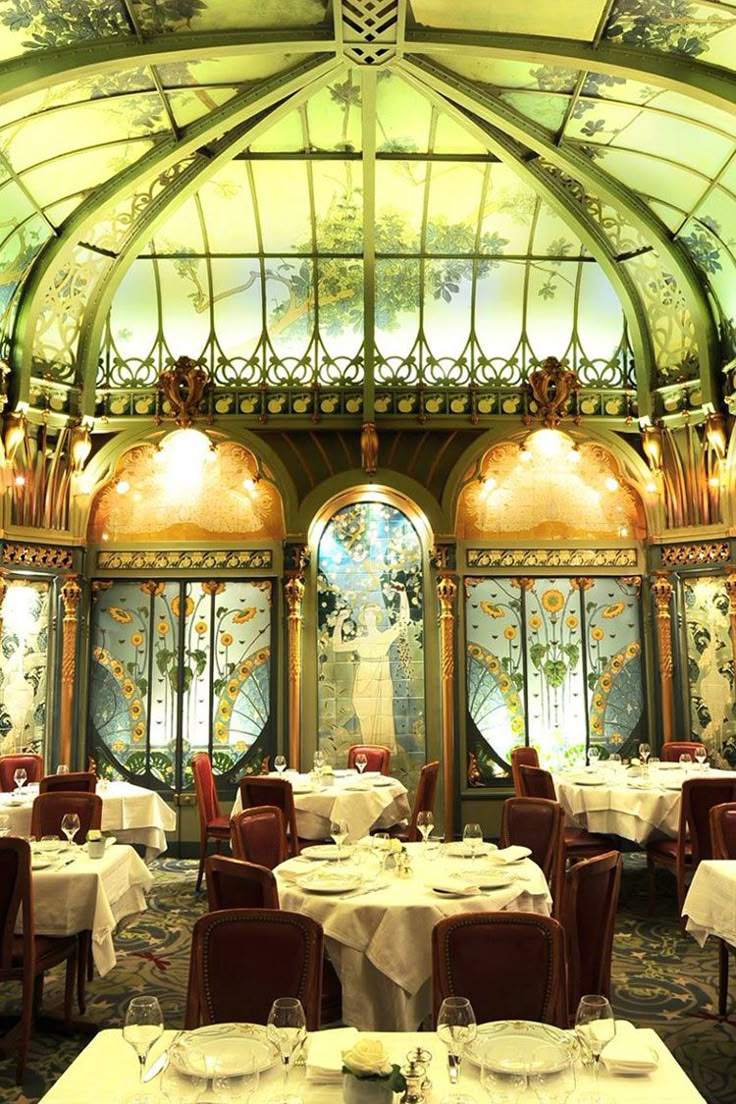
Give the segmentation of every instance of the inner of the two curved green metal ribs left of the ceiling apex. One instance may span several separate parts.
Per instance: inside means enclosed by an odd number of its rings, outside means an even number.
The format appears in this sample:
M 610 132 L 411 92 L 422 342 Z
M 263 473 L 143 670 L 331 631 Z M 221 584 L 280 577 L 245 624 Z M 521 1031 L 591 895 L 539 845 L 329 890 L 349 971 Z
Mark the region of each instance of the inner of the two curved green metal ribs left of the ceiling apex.
M 237 153 L 242 152 L 262 132 L 270 129 L 275 123 L 278 123 L 290 112 L 295 110 L 295 108 L 298 108 L 316 91 L 327 86 L 333 79 L 335 72 L 341 68 L 342 63 L 332 60 L 331 64 L 322 67 L 319 77 L 311 79 L 288 99 L 281 100 L 276 107 L 271 107 L 267 115 L 262 116 L 250 125 L 244 124 L 238 128 L 237 134 L 228 134 L 220 139 L 209 157 L 198 159 L 198 161 L 193 162 L 177 178 L 171 188 L 163 191 L 146 209 L 140 220 L 136 223 L 135 229 L 127 237 L 125 246 L 116 257 L 111 258 L 110 265 L 97 282 L 87 300 L 87 309 L 85 310 L 84 323 L 79 333 L 77 353 L 77 380 L 82 385 L 81 413 L 83 415 L 94 415 L 95 385 L 105 321 L 113 305 L 115 293 L 125 274 L 130 268 L 130 265 L 138 256 L 141 246 L 166 222 L 172 210 L 175 210 L 175 208 L 193 195 L 223 164 L 226 164 Z M 202 163 L 202 160 L 204 160 L 204 163 Z

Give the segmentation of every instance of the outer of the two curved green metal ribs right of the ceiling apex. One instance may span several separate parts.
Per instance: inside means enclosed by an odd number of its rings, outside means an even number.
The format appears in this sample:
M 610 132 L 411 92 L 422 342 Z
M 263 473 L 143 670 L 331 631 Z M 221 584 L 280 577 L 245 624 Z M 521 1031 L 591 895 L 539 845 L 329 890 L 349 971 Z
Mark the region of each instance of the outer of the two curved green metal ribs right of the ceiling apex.
M 680 282 L 692 314 L 698 346 L 703 401 L 713 403 L 717 394 L 715 380 L 719 367 L 715 319 L 693 261 L 679 243 L 672 241 L 670 232 L 657 215 L 636 195 L 625 193 L 617 181 L 584 155 L 573 149 L 568 144 L 564 144 L 562 147 L 557 146 L 541 127 L 525 119 L 500 100 L 483 95 L 472 82 L 431 62 L 419 61 L 416 57 L 410 61 L 405 60 L 402 67 L 404 71 L 409 70 L 416 73 L 426 87 L 448 97 L 459 107 L 477 115 L 484 123 L 508 134 L 574 179 L 579 180 L 626 215 L 639 233 L 657 248 Z

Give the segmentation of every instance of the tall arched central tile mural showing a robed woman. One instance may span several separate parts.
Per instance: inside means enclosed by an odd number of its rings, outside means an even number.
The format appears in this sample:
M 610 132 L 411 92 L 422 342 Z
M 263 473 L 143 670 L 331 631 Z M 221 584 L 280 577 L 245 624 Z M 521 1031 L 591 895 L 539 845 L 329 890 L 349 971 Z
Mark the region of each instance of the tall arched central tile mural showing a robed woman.
M 412 786 L 425 761 L 422 545 L 380 502 L 339 510 L 319 543 L 319 744 L 343 766 L 354 743 L 383 744 Z

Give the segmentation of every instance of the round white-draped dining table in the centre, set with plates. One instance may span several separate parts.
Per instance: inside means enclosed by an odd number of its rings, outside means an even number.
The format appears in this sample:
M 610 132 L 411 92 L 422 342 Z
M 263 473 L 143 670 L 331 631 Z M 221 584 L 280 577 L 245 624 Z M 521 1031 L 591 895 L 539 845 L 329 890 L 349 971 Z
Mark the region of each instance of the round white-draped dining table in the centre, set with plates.
M 431 930 L 445 916 L 504 909 L 551 913 L 542 870 L 527 858 L 504 864 L 492 845 L 471 859 L 462 842 L 407 843 L 407 870 L 381 869 L 383 860 L 372 850 L 367 843 L 343 849 L 340 861 L 334 847 L 307 848 L 274 871 L 280 906 L 322 924 L 342 984 L 343 1022 L 362 1031 L 416 1030 L 427 1019 Z M 319 858 L 330 851 L 332 857 Z

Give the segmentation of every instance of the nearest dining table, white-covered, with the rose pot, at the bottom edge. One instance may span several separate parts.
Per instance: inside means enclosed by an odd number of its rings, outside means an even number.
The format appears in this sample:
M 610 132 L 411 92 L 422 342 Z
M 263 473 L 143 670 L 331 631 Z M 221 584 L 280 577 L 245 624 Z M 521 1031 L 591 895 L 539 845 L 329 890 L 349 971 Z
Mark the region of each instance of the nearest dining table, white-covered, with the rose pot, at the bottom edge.
M 493 1026 L 495 1027 L 495 1026 Z M 511 1026 L 513 1028 L 513 1025 Z M 601 1065 L 600 1090 L 610 1104 L 706 1104 L 684 1070 L 666 1049 L 662 1040 L 651 1028 L 639 1029 L 637 1032 L 639 1045 L 646 1045 L 652 1057 L 655 1068 L 643 1075 L 632 1076 L 629 1071 L 621 1074 Z M 175 1038 L 174 1031 L 164 1031 L 152 1048 L 149 1068 L 164 1052 L 170 1052 Z M 452 1089 L 448 1079 L 447 1052 L 434 1031 L 423 1032 L 380 1032 L 372 1038 L 383 1043 L 388 1059 L 397 1065 L 405 1066 L 407 1055 L 420 1048 L 429 1054 L 427 1074 L 431 1081 L 429 1101 L 457 1101 L 465 1098 L 471 1104 L 488 1104 L 489 1094 L 480 1083 L 480 1070 L 468 1058 L 460 1063 L 459 1080 Z M 352 1038 L 342 1029 L 314 1032 L 307 1038 L 306 1061 L 297 1062 L 290 1078 L 290 1091 L 300 1097 L 303 1104 L 341 1104 L 344 1100 L 342 1078 L 340 1075 L 341 1052 L 352 1043 Z M 317 1065 L 312 1061 L 319 1051 Z M 250 1097 L 250 1104 L 264 1104 L 273 1101 L 279 1093 L 281 1073 L 278 1068 L 276 1052 L 267 1059 L 268 1068 L 259 1076 L 259 1083 Z M 166 1072 L 159 1074 L 145 1085 L 150 1100 L 158 1104 L 171 1097 L 164 1096 L 162 1081 Z M 579 1098 L 578 1093 L 589 1093 L 593 1089 L 593 1078 L 589 1066 L 575 1063 L 576 1092 L 573 1102 Z M 62 1074 L 55 1085 L 41 1097 L 40 1104 L 98 1104 L 99 1101 L 118 1104 L 130 1100 L 136 1092 L 138 1081 L 138 1059 L 132 1049 L 122 1038 L 120 1029 L 100 1031 L 92 1042 L 74 1060 Z M 188 1097 L 189 1100 L 190 1097 Z M 396 1097 L 394 1097 L 396 1098 Z M 196 1097 L 200 1104 L 222 1100 L 214 1096 L 211 1084 L 202 1084 L 202 1093 Z M 524 1090 L 516 1096 L 519 1104 L 536 1104 L 537 1096 L 531 1090 Z

